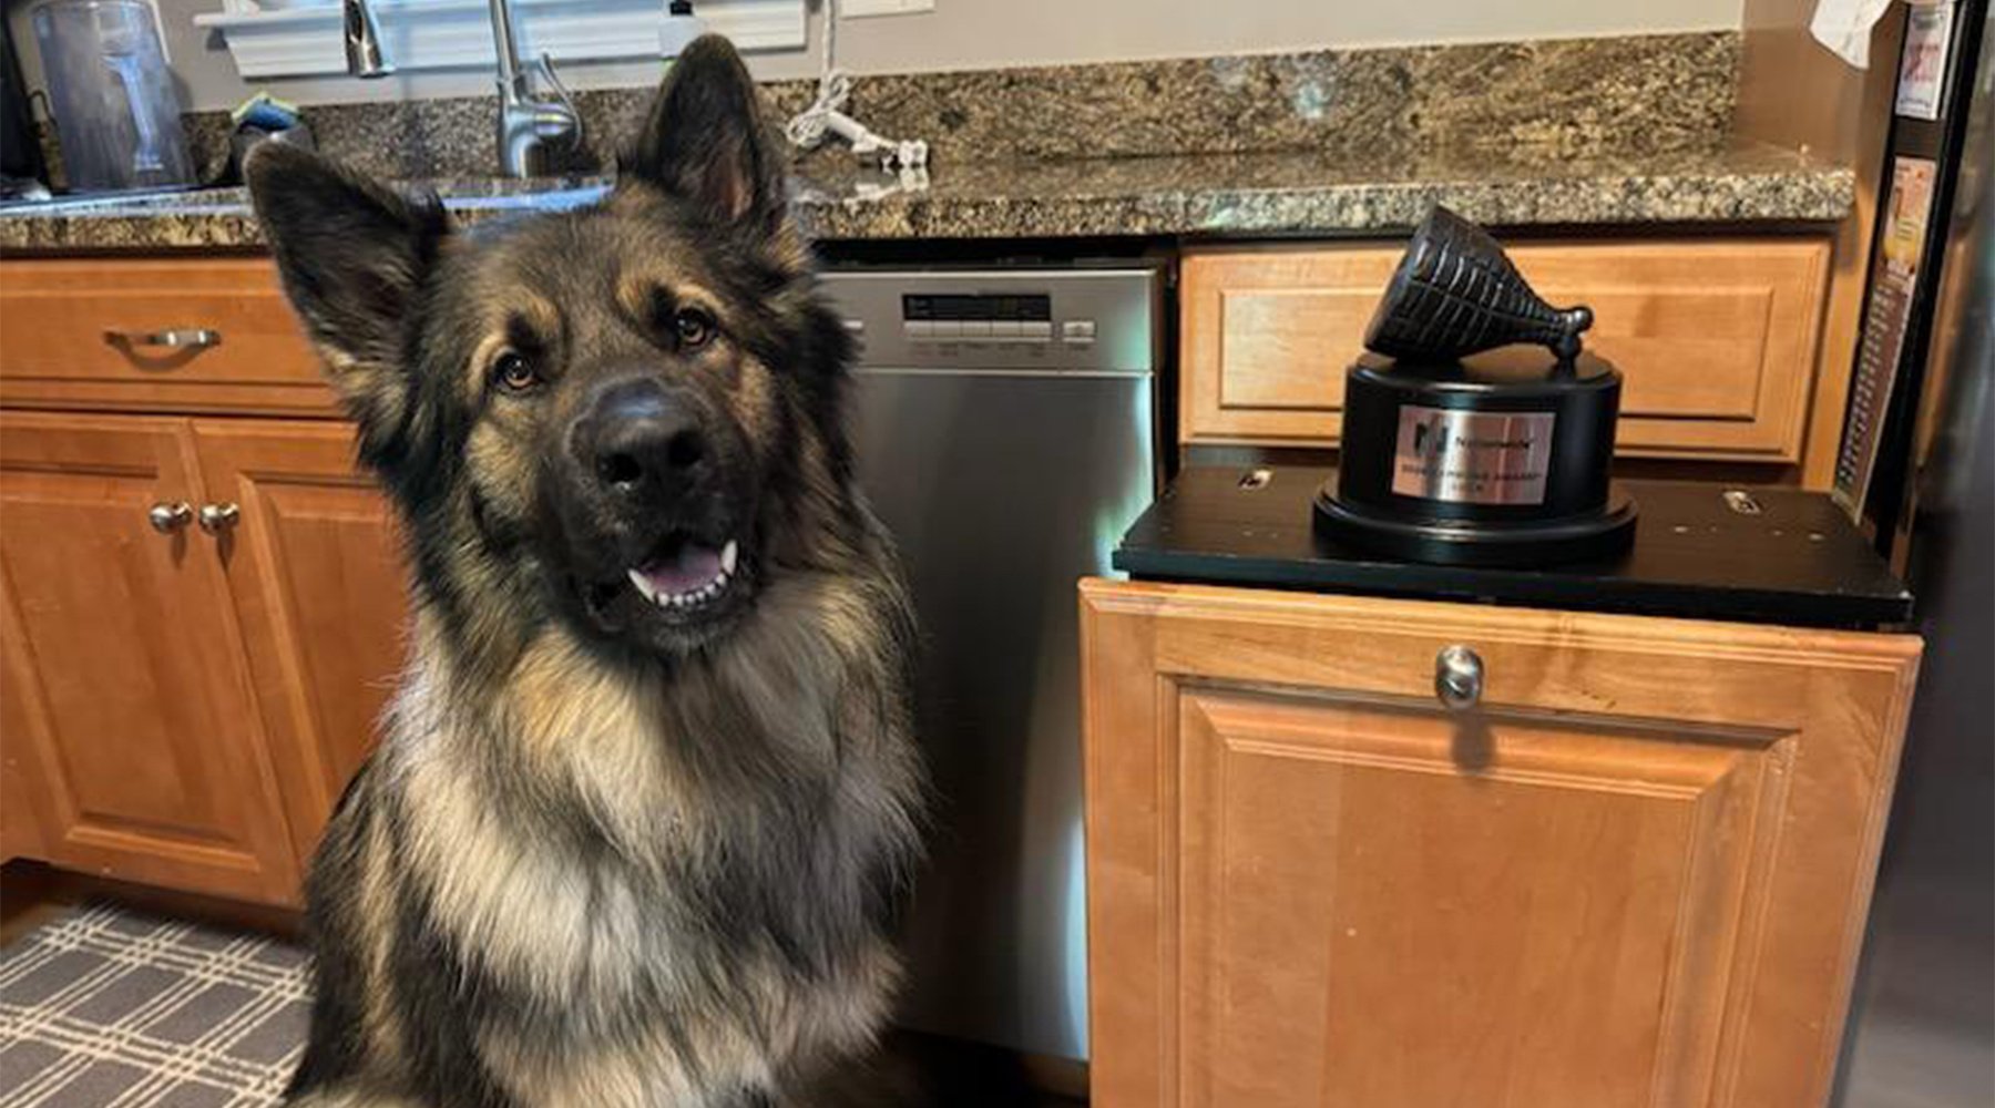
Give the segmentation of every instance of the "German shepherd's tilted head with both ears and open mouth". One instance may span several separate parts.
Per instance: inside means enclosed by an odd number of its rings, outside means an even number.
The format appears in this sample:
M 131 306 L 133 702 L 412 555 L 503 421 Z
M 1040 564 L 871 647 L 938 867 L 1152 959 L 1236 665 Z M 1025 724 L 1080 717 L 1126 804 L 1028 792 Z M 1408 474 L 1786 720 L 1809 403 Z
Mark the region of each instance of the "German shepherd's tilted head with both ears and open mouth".
M 455 233 L 289 147 L 247 177 L 417 582 L 467 628 L 499 606 L 690 652 L 840 546 L 850 343 L 724 40 L 672 66 L 595 207 Z

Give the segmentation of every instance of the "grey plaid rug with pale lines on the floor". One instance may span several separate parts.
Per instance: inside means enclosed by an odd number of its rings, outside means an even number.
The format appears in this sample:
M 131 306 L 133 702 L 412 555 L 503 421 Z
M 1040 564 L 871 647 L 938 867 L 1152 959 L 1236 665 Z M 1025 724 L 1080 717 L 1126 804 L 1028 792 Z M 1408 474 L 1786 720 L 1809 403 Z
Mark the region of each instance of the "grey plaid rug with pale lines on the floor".
M 297 947 L 92 905 L 0 951 L 0 1108 L 259 1108 L 305 1040 Z

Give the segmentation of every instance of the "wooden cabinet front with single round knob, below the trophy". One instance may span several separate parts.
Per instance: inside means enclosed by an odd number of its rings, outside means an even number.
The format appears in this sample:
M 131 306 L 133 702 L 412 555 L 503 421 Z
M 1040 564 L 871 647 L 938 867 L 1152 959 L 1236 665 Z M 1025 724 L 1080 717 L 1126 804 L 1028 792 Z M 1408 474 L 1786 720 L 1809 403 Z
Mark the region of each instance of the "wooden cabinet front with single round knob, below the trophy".
M 1083 612 L 1099 1108 L 1823 1102 L 1915 638 Z M 1476 709 L 1434 699 L 1450 644 Z

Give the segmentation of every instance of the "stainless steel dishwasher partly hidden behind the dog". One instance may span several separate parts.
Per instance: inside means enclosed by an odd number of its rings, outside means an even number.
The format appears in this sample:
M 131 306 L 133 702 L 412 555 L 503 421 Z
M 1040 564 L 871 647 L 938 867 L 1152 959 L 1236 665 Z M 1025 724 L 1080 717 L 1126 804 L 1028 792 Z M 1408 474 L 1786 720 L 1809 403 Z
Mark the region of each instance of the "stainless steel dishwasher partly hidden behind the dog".
M 1073 582 L 1157 492 L 1163 269 L 832 269 L 854 442 L 924 632 L 938 791 L 900 1022 L 1087 1056 Z

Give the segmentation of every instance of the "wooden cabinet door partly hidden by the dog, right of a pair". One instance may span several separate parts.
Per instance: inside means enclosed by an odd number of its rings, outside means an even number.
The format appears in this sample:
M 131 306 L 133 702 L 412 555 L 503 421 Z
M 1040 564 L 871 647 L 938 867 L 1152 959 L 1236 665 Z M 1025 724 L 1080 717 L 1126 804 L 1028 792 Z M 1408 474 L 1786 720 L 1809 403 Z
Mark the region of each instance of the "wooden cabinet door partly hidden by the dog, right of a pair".
M 249 648 L 293 847 L 307 861 L 373 749 L 403 654 L 407 592 L 389 508 L 339 422 L 201 420 L 217 548 Z

